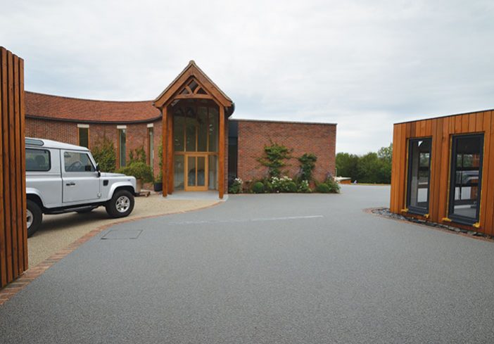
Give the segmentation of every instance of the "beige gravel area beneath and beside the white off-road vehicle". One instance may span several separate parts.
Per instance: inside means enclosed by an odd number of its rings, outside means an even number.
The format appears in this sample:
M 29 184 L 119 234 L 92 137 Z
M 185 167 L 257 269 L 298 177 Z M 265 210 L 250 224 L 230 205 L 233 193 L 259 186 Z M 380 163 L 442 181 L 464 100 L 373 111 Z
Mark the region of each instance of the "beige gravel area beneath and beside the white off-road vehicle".
M 128 217 L 112 219 L 104 207 L 96 208 L 89 214 L 69 212 L 63 215 L 44 215 L 42 227 L 27 239 L 29 266 L 34 267 L 89 231 L 105 224 L 128 221 L 141 217 L 189 212 L 215 205 L 217 200 L 170 200 L 154 194 L 136 197 L 134 211 Z

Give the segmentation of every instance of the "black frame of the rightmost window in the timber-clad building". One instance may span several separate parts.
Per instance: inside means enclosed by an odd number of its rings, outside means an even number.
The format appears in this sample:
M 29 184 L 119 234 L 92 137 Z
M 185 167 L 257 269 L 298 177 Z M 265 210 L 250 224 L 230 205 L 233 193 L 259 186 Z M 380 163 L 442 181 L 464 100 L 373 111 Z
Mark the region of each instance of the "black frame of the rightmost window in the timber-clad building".
M 480 164 L 479 164 L 479 183 L 477 191 L 477 209 L 476 209 L 476 217 L 466 217 L 462 215 L 455 215 L 453 212 L 455 210 L 455 188 L 456 188 L 456 172 L 457 172 L 457 140 L 458 139 L 469 139 L 473 137 L 481 138 L 481 151 L 480 151 Z M 449 198 L 448 198 L 448 218 L 451 219 L 452 222 L 456 222 L 458 224 L 466 224 L 467 226 L 471 226 L 479 222 L 480 219 L 480 209 L 481 209 L 481 191 L 482 191 L 482 170 L 483 170 L 483 151 L 484 151 L 484 139 L 485 136 L 483 133 L 477 134 L 456 134 L 451 137 L 451 157 L 450 157 L 450 190 L 449 190 Z

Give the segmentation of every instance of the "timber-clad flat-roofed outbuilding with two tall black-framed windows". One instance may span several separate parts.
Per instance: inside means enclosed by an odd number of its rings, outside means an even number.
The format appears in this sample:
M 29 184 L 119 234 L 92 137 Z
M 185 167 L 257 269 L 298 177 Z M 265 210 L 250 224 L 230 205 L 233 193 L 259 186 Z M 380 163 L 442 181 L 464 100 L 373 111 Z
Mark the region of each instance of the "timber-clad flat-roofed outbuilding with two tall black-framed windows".
M 493 111 L 398 123 L 391 212 L 492 236 Z

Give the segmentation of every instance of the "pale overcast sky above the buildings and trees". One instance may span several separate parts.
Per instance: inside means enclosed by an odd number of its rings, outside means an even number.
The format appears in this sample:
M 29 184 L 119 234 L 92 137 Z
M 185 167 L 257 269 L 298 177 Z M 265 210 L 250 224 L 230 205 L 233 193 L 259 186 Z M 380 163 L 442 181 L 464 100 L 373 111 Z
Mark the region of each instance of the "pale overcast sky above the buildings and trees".
M 148 100 L 189 60 L 234 118 L 336 122 L 338 152 L 394 122 L 494 108 L 494 1 L 0 0 L 28 91 Z

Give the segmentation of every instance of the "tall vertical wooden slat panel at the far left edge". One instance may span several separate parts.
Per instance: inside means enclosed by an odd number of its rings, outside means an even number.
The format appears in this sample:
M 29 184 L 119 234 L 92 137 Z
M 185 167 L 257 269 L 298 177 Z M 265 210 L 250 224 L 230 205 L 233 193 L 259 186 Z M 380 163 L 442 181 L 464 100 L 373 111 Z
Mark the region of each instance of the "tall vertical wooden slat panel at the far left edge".
M 0 287 L 27 269 L 24 61 L 0 47 Z

